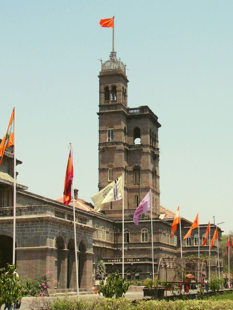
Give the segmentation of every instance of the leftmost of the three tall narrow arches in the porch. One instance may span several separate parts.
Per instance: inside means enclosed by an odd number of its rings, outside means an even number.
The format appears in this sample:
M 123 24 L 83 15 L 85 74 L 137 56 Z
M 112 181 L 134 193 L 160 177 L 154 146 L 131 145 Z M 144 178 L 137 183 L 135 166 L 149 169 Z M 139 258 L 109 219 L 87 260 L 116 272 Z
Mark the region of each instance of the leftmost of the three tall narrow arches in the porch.
M 57 248 L 57 281 L 59 283 L 59 288 L 65 288 L 65 242 L 64 239 L 59 236 L 56 240 L 56 248 Z

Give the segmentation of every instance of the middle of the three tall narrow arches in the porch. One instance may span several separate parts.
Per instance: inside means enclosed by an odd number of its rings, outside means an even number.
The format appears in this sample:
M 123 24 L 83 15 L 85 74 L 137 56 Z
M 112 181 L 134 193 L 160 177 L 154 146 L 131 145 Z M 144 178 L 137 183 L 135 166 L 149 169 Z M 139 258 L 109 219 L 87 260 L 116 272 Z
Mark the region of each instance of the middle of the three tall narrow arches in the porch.
M 68 246 L 68 254 L 67 254 L 67 289 L 75 288 L 75 244 L 74 239 L 70 239 Z

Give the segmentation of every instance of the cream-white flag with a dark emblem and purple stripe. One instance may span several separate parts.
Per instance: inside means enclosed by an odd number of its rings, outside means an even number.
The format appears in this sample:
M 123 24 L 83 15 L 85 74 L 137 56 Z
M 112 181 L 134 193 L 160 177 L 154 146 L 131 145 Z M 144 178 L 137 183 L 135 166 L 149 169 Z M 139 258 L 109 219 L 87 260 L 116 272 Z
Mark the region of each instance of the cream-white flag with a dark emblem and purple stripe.
M 117 200 L 122 199 L 122 196 L 123 182 L 121 175 L 118 179 L 101 189 L 98 194 L 92 196 L 91 200 L 94 202 L 94 209 L 99 212 L 103 209 L 103 203 L 116 202 Z

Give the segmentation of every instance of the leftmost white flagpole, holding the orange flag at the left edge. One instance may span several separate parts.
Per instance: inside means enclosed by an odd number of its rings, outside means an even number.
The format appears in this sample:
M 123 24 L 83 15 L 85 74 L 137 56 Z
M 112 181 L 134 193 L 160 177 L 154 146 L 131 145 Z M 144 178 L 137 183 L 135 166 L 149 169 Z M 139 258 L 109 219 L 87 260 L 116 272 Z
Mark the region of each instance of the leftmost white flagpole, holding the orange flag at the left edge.
M 16 264 L 16 107 L 14 107 L 13 264 Z

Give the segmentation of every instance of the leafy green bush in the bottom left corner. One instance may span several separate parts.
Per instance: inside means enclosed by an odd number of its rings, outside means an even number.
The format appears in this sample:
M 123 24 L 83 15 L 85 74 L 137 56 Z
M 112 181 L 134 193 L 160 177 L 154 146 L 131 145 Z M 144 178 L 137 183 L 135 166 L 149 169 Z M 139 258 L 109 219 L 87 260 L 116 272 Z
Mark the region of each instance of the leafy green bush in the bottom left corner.
M 0 305 L 13 304 L 22 299 L 21 279 L 17 275 L 17 265 L 7 265 L 0 269 Z

